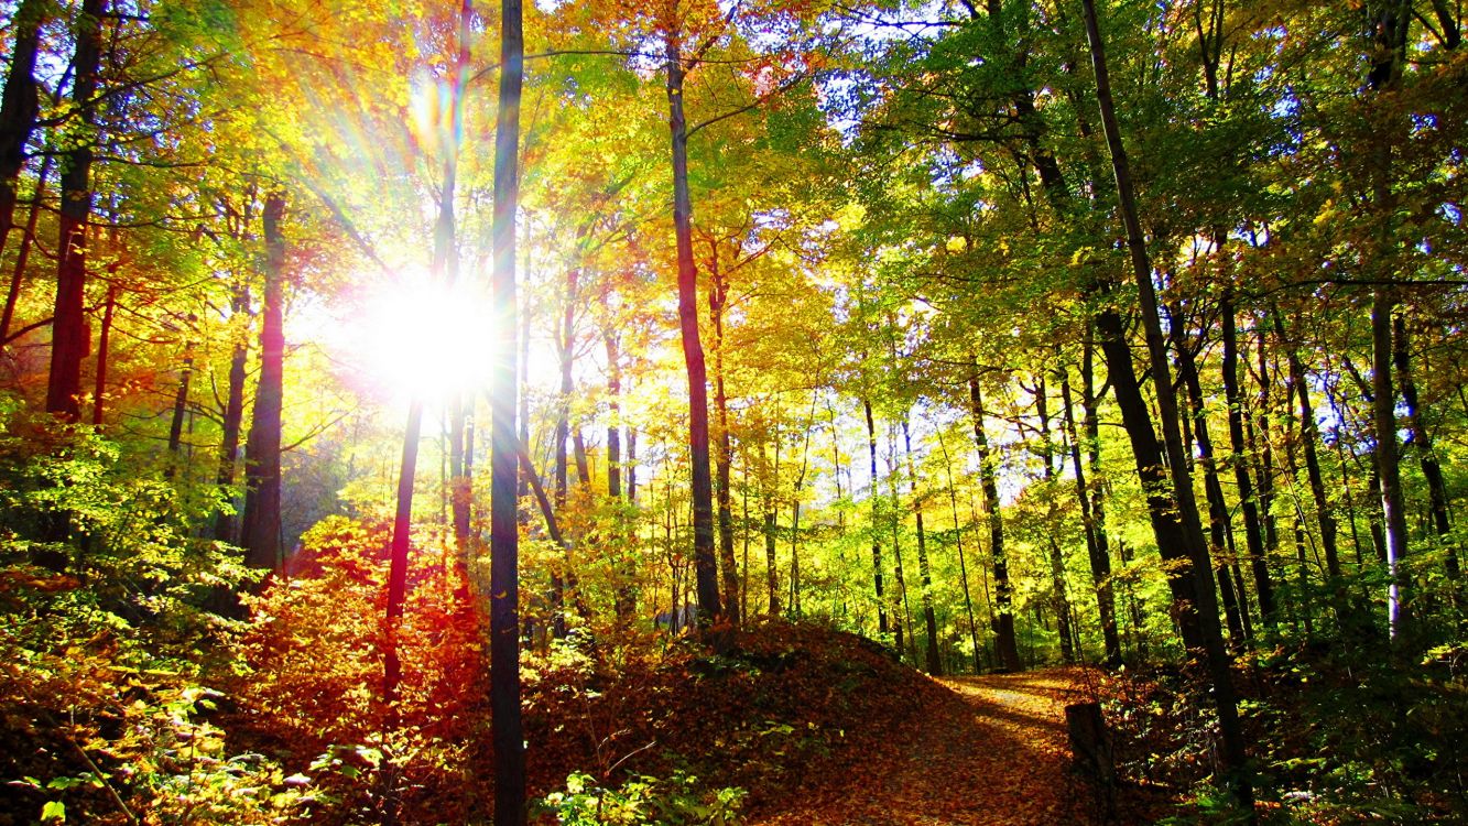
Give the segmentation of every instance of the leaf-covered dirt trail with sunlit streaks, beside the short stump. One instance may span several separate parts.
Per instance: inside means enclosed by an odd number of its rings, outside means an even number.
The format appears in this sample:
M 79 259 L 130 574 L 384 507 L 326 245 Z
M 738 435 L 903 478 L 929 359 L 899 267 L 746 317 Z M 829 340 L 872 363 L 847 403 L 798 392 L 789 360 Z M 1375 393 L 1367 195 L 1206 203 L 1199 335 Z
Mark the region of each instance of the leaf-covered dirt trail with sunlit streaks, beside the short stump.
M 1082 698 L 1082 679 L 1079 669 L 942 679 L 948 692 L 913 714 L 909 737 L 753 823 L 1100 822 L 1066 737 L 1064 707 Z

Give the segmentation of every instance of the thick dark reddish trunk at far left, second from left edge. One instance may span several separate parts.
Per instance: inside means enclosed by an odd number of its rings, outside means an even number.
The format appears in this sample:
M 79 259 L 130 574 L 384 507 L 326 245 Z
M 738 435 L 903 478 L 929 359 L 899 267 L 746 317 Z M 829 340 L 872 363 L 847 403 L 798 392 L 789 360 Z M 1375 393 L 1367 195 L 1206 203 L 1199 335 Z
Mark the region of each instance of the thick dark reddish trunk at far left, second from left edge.
M 66 421 L 81 414 L 78 396 L 82 358 L 87 355 L 87 224 L 91 222 L 92 147 L 97 136 L 97 85 L 101 67 L 101 21 L 107 0 L 82 0 L 76 15 L 76 53 L 72 57 L 72 116 L 68 142 L 75 144 L 62 161 L 60 236 L 56 249 L 56 311 L 51 315 L 51 370 L 46 411 Z

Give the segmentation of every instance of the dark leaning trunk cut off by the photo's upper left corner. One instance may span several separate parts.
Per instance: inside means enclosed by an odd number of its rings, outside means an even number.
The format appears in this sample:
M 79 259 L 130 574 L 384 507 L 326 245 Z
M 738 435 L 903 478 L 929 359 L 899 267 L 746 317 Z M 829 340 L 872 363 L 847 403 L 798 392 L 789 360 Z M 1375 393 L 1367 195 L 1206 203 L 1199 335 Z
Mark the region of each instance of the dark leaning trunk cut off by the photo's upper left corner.
M 31 139 L 31 132 L 35 131 L 35 117 L 41 110 L 40 87 L 35 82 L 35 56 L 47 9 L 46 0 L 21 0 L 15 16 L 10 18 L 10 29 L 15 35 L 10 41 L 10 66 L 6 72 L 4 95 L 0 97 L 0 252 L 4 251 L 4 245 L 10 239 L 15 202 L 19 197 L 21 169 L 25 166 L 25 144 Z M 0 326 L 0 340 L 4 339 L 9 327 L 10 314 L 6 313 L 4 324 Z

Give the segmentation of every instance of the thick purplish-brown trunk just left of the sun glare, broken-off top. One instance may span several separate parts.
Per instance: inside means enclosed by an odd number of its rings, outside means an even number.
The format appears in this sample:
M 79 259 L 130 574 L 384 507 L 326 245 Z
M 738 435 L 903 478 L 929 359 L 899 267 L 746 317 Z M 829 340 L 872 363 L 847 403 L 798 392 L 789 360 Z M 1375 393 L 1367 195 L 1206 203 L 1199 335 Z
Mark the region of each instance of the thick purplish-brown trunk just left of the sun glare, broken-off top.
M 245 442 L 245 513 L 239 543 L 255 568 L 280 565 L 280 406 L 285 380 L 285 195 L 266 197 L 266 271 L 260 324 L 260 383 Z

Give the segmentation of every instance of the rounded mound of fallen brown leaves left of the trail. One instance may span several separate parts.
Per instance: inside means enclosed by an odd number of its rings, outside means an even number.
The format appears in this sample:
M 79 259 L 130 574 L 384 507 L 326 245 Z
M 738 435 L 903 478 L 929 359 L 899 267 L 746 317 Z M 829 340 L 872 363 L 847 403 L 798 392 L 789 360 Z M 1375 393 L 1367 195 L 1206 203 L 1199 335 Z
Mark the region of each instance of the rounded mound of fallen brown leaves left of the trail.
M 819 794 L 919 710 L 959 701 L 876 643 L 784 622 L 727 634 L 719 651 L 683 638 L 619 662 L 562 653 L 527 676 L 533 795 L 573 772 L 678 775 L 747 789 L 752 813 Z

